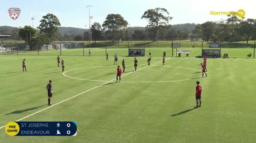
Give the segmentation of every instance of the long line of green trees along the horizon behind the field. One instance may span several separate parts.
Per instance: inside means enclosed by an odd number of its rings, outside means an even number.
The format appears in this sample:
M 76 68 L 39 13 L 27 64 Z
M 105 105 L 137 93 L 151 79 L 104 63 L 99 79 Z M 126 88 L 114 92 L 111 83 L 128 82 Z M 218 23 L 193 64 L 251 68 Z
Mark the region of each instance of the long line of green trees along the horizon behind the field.
M 256 19 L 239 18 L 237 15 L 228 15 L 226 20 L 218 22 L 207 21 L 203 24 L 196 24 L 193 30 L 176 29 L 170 25 L 172 17 L 164 8 L 148 9 L 141 19 L 148 21 L 146 27 L 128 27 L 128 22 L 120 14 L 108 14 L 103 24 L 94 22 L 91 25 L 92 40 L 111 39 L 114 40 L 175 40 L 187 39 L 213 42 L 234 42 L 256 39 Z M 40 20 L 41 24 L 37 29 L 31 26 L 24 26 L 15 29 L 15 33 L 28 42 L 50 42 L 52 40 L 88 40 L 89 31 L 84 35 L 63 35 L 60 36 L 60 21 L 54 14 L 48 13 Z M 132 30 L 132 31 L 131 31 Z M 27 38 L 29 33 L 29 38 Z M 31 36 L 30 36 L 31 35 Z M 32 37 L 32 38 L 30 38 Z

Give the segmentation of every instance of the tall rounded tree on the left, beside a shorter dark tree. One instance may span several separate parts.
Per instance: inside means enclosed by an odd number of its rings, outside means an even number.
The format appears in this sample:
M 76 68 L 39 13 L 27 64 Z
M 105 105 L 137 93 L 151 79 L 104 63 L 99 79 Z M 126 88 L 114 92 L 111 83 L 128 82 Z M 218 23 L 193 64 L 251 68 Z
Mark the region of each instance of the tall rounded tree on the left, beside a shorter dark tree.
M 59 27 L 60 27 L 60 21 L 52 13 L 48 13 L 47 15 L 43 16 L 43 19 L 40 20 L 41 24 L 37 29 L 40 30 L 40 33 L 44 33 L 48 38 L 51 38 L 52 36 L 59 38 L 60 37 L 60 32 L 59 32 Z

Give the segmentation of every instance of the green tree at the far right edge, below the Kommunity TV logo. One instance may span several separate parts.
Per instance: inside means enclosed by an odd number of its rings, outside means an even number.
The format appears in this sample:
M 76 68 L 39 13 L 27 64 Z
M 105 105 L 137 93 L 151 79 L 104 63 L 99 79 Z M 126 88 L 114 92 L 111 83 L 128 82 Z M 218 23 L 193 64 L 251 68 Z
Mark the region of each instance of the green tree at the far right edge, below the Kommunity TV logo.
M 245 39 L 248 43 L 249 39 L 251 38 L 252 34 L 255 33 L 255 20 L 254 19 L 247 19 L 245 21 L 240 22 L 240 33 L 245 36 Z

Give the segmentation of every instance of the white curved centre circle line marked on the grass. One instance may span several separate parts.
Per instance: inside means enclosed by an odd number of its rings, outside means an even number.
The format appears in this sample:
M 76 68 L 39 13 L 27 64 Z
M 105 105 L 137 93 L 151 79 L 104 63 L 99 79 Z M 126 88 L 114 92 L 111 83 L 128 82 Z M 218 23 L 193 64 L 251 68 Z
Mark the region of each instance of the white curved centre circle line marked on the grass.
M 131 65 L 126 65 L 126 66 L 131 66 Z M 150 65 L 152 67 L 163 67 L 161 65 Z M 105 65 L 105 66 L 98 66 L 98 67 L 112 67 L 112 65 Z M 164 66 L 164 67 L 172 67 L 172 66 Z M 85 69 L 85 68 L 95 68 L 95 67 L 82 67 L 82 68 L 78 68 L 78 69 Z M 191 69 L 191 68 L 187 68 L 187 67 L 174 67 L 174 68 L 180 68 L 180 69 Z M 77 70 L 77 69 L 71 69 L 71 70 L 68 70 L 68 71 L 72 71 L 72 70 Z M 195 70 L 195 71 L 200 71 L 198 69 L 191 69 L 191 70 Z M 68 71 L 65 71 L 65 72 L 68 72 Z M 64 76 L 66 76 L 67 78 L 73 78 L 73 79 L 76 79 L 76 80 L 87 80 L 87 81 L 101 81 L 101 82 L 107 82 L 107 81 L 104 81 L 104 80 L 88 80 L 88 79 L 83 79 L 83 78 L 74 78 L 74 77 L 70 77 L 70 76 L 67 76 L 65 75 L 65 72 L 63 73 Z M 121 76 L 123 77 L 123 76 Z M 196 77 L 196 78 L 199 78 L 199 77 Z M 190 80 L 190 79 L 184 79 L 184 80 Z M 155 83 L 155 82 L 174 82 L 174 81 L 184 81 L 184 80 L 168 80 L 168 81 L 122 81 L 122 83 Z M 111 81 L 111 82 L 114 82 L 114 81 Z

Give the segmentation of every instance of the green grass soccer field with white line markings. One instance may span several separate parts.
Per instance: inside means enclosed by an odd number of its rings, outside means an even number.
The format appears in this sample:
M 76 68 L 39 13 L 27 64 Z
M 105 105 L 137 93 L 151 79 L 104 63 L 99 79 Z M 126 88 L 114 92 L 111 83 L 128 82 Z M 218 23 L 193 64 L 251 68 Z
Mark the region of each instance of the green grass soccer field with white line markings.
M 171 57 L 171 48 L 147 48 L 146 57 L 133 57 L 127 48 L 62 50 L 65 72 L 57 67 L 60 51 L 0 55 L 0 142 L 37 143 L 241 143 L 255 142 L 256 60 L 252 48 L 223 48 L 228 59 L 207 59 L 202 76 L 200 48 L 190 57 Z M 152 51 L 148 66 L 148 51 Z M 162 54 L 166 51 L 165 65 Z M 126 61 L 116 81 L 114 54 Z M 22 72 L 26 59 L 28 72 Z M 122 68 L 122 67 L 121 67 Z M 53 80 L 52 106 L 46 85 Z M 194 108 L 196 81 L 202 86 L 202 107 Z M 77 136 L 8 136 L 9 121 L 76 121 Z

